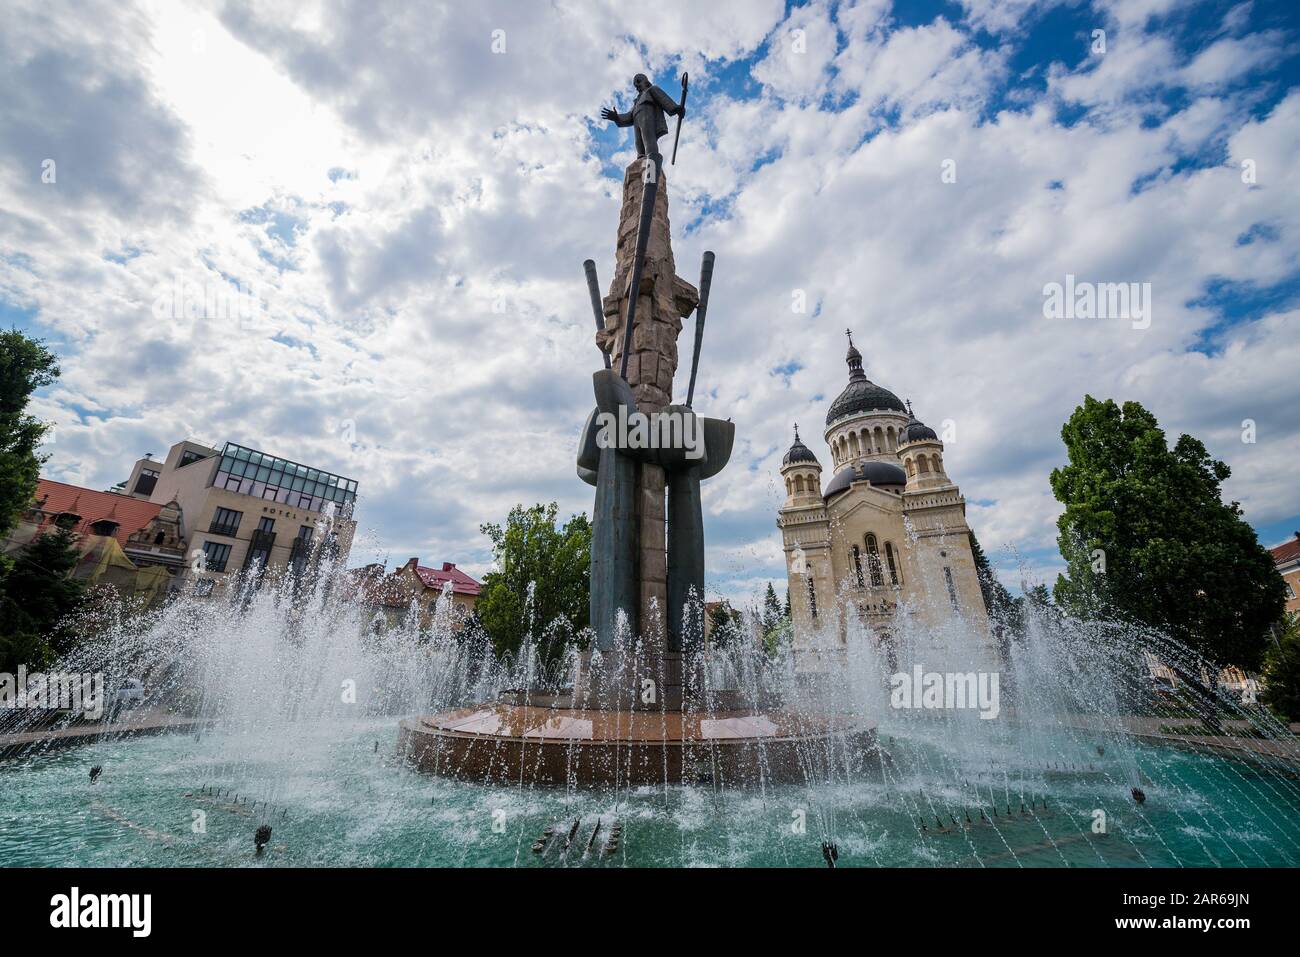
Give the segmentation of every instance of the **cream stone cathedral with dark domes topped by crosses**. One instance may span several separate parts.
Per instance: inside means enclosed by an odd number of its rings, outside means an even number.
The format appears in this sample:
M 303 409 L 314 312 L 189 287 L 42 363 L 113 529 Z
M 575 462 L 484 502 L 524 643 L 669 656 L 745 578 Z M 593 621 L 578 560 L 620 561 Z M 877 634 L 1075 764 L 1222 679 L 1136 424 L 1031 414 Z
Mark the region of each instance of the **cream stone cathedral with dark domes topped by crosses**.
M 944 469 L 944 443 L 888 389 L 867 378 L 849 334 L 849 384 L 826 413 L 831 480 L 803 445 L 781 460 L 777 512 L 794 649 L 846 640 L 850 615 L 885 645 L 900 615 L 937 625 L 961 616 L 988 636 L 966 525 L 966 499 Z M 809 655 L 803 655 L 805 659 Z

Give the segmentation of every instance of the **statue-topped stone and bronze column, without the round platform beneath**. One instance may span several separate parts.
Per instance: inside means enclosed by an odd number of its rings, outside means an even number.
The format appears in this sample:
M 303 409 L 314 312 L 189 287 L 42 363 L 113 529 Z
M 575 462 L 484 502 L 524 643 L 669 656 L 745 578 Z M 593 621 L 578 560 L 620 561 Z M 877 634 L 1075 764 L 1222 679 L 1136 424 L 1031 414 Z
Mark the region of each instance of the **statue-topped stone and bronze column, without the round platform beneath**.
M 612 650 L 620 635 L 640 637 L 644 670 L 628 674 L 618 666 L 618 677 L 611 677 L 592 668 L 584 690 L 610 700 L 611 706 L 679 710 L 682 654 L 703 633 L 699 481 L 727 463 L 733 428 L 731 423 L 697 417 L 690 408 L 693 394 L 686 404 L 672 404 L 677 335 L 682 320 L 693 312 L 694 386 L 712 254 L 705 254 L 701 289 L 677 276 L 658 138 L 667 133 L 663 114 L 681 117 L 685 111 L 645 75 L 637 74 L 633 85 L 637 100 L 629 113 L 603 112 L 620 126 L 636 127 L 638 156 L 623 177 L 614 280 L 599 303 L 593 291 L 595 342 L 604 354 L 606 369 L 595 373 L 597 408 L 584 429 L 578 475 L 597 486 L 592 541 L 592 627 L 597 649 L 602 654 Z M 684 77 L 684 94 L 685 88 Z M 595 283 L 590 263 L 588 282 Z M 602 413 L 623 416 L 619 421 L 640 413 L 651 429 L 659 426 L 659 436 L 676 441 L 656 449 L 629 447 L 621 441 L 627 437 L 611 442 L 607 432 L 603 437 L 601 433 Z M 692 437 L 699 441 L 688 449 Z

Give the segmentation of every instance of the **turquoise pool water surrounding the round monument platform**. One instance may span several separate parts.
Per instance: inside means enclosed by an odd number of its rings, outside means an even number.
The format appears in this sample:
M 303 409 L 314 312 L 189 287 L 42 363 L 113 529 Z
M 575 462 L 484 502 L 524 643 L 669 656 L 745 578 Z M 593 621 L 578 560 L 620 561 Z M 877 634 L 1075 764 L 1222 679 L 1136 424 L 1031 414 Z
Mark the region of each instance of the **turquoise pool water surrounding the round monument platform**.
M 820 867 L 826 835 L 841 867 L 1300 865 L 1300 791 L 1287 776 L 1145 745 L 1102 758 L 1072 739 L 1034 761 L 1041 739 L 1015 732 L 971 757 L 914 731 L 881 728 L 893 759 L 859 780 L 744 792 L 460 784 L 398 761 L 389 719 L 122 740 L 0 763 L 0 862 Z M 615 820 L 621 844 L 604 853 Z M 256 858 L 263 822 L 273 837 Z M 537 854 L 547 826 L 559 837 Z

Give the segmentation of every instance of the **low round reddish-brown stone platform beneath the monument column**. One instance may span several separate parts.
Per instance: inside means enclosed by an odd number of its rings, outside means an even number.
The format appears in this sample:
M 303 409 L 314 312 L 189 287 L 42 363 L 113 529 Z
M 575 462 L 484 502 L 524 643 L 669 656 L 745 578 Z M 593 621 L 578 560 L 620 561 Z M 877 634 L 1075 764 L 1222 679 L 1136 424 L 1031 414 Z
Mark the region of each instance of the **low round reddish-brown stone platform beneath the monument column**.
M 411 718 L 398 746 L 421 771 L 543 785 L 802 783 L 864 762 L 875 727 L 789 711 L 604 711 L 488 703 Z

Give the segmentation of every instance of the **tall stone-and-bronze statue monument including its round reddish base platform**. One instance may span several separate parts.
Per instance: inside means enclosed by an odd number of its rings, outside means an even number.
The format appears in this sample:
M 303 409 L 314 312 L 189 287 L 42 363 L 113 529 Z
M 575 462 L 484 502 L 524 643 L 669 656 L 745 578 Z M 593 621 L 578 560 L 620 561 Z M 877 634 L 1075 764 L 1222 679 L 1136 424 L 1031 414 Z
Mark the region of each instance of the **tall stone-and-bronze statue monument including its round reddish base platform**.
M 604 117 L 637 131 L 623 177 L 614 281 L 586 282 L 604 368 L 592 376 L 595 408 L 577 449 L 577 473 L 595 486 L 592 628 L 572 690 L 502 689 L 489 701 L 402 722 L 402 752 L 433 774 L 554 785 L 696 784 L 762 787 L 801 781 L 831 742 L 866 755 L 870 724 L 785 709 L 768 692 L 697 681 L 703 654 L 705 529 L 699 485 L 731 458 L 734 425 L 692 404 L 714 254 L 699 285 L 677 276 L 658 140 L 681 104 L 644 75 L 628 113 Z M 682 104 L 686 77 L 682 77 Z M 677 335 L 694 313 L 686 398 L 672 402 Z M 645 441 L 650 436 L 654 439 Z M 658 439 L 658 441 L 655 441 Z M 824 852 L 823 852 L 824 853 Z

